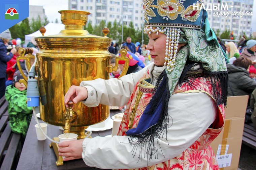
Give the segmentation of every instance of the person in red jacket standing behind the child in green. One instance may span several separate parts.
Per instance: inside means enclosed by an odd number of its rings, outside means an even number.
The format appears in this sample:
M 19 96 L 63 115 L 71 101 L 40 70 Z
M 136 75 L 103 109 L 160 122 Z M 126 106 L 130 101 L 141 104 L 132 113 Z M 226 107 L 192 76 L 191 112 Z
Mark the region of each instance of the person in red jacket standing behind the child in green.
M 8 75 L 8 78 L 5 81 L 5 87 L 12 84 L 13 74 L 15 72 L 15 66 L 17 65 L 16 58 L 20 56 L 19 49 L 21 47 L 17 46 L 15 48 L 16 48 L 17 52 L 13 55 L 13 57 L 10 59 L 10 61 L 7 62 L 6 73 Z

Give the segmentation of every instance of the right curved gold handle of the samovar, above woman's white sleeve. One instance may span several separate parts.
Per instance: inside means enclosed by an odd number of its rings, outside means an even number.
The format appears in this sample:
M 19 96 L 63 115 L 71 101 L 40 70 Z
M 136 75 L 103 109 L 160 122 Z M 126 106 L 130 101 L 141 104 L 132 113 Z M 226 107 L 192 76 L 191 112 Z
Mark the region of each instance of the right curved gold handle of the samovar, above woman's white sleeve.
M 116 57 L 115 67 L 113 68 L 112 65 L 109 66 L 109 72 L 117 71 L 117 69 L 118 69 L 118 61 L 125 61 L 124 69 L 123 69 L 122 73 L 120 74 L 120 76 L 118 78 L 124 76 L 127 73 L 127 70 L 128 70 L 128 67 L 129 67 L 129 58 L 126 57 L 126 54 L 127 54 L 126 49 L 121 49 L 120 50 L 120 54 L 121 54 L 121 57 Z

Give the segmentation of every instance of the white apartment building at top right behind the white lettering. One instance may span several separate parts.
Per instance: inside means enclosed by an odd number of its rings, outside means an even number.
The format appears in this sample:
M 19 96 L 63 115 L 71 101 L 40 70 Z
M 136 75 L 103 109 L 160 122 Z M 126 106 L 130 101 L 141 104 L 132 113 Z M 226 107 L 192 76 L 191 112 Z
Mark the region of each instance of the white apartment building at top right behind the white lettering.
M 220 30 L 220 33 L 224 32 L 226 29 L 233 31 L 235 37 L 239 37 L 243 33 L 246 36 L 250 36 L 252 33 L 251 23 L 252 23 L 252 15 L 240 15 L 236 16 L 236 12 L 252 12 L 253 11 L 253 0 L 204 0 L 205 8 L 207 8 L 207 4 L 223 4 L 228 6 L 228 9 L 225 10 L 207 10 L 208 18 L 212 29 L 215 31 Z M 210 6 L 210 5 L 209 5 Z M 216 15 L 222 13 L 222 15 Z M 223 14 L 225 13 L 225 14 Z M 229 15 L 226 15 L 226 14 Z M 233 13 L 233 15 L 232 15 Z

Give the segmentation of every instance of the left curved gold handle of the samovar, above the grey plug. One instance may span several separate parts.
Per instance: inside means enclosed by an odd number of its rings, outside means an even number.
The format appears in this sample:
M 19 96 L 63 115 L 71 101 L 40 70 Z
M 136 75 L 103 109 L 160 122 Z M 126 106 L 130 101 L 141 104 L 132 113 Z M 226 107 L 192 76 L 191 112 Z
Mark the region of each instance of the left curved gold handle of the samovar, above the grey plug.
M 35 60 L 35 56 L 32 55 L 33 49 L 32 48 L 27 48 L 27 47 L 26 48 L 20 48 L 19 49 L 19 53 L 20 53 L 20 56 L 16 58 L 16 63 L 17 63 L 17 66 L 18 66 L 18 68 L 19 68 L 19 70 L 20 70 L 24 80 L 27 82 L 28 81 L 28 77 L 26 77 L 26 75 L 22 71 L 20 60 L 28 60 L 26 65 L 27 65 L 28 70 L 30 70 L 30 68 L 31 68 L 31 61 Z

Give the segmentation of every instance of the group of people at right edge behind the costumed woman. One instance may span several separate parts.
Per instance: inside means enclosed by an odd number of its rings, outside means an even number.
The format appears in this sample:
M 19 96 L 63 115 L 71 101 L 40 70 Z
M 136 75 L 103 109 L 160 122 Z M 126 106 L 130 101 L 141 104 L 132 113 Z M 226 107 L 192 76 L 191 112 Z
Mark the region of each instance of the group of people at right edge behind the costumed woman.
M 245 39 L 245 36 L 243 38 Z M 244 47 L 237 46 L 234 42 L 225 44 L 230 61 L 227 64 L 228 96 L 249 95 L 247 108 L 254 111 L 252 114 L 251 112 L 246 113 L 245 123 L 252 122 L 256 128 L 256 40 L 248 40 L 244 45 Z

